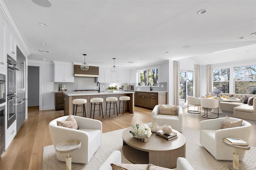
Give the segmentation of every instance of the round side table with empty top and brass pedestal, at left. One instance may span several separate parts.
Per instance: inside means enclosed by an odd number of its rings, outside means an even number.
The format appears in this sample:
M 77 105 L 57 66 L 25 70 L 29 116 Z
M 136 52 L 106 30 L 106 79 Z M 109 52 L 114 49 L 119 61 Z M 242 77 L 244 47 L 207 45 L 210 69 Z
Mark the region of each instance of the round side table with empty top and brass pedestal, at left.
M 71 170 L 71 156 L 69 155 L 71 152 L 78 150 L 81 147 L 81 142 L 78 140 L 68 140 L 64 141 L 56 146 L 57 153 L 67 153 L 66 157 L 66 170 Z

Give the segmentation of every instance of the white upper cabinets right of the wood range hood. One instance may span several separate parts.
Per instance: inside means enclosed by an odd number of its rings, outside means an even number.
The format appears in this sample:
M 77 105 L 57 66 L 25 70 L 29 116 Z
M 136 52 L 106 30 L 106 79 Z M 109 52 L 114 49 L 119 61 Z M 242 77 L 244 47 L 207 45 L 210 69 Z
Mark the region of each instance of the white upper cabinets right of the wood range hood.
M 111 72 L 110 68 L 99 67 L 100 77 L 98 82 L 106 83 L 128 83 L 130 82 L 130 70 L 118 69 L 117 72 Z

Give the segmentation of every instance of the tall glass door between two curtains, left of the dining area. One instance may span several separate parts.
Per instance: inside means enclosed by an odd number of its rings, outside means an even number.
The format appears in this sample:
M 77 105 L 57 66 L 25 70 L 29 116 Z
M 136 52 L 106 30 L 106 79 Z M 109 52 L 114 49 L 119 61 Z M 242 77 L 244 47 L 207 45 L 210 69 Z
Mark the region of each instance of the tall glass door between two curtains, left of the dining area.
M 193 72 L 180 71 L 180 102 L 186 103 L 186 96 L 193 96 Z

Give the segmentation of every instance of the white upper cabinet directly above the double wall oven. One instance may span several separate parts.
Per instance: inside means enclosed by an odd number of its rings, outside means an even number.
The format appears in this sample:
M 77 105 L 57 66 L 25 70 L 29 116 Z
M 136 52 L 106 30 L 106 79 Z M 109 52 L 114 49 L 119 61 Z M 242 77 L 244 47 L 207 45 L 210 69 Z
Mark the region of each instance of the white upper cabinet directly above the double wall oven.
M 5 29 L 5 46 L 6 46 L 6 53 L 10 55 L 14 60 L 17 60 L 16 58 L 16 39 L 12 35 L 12 32 L 8 27 Z

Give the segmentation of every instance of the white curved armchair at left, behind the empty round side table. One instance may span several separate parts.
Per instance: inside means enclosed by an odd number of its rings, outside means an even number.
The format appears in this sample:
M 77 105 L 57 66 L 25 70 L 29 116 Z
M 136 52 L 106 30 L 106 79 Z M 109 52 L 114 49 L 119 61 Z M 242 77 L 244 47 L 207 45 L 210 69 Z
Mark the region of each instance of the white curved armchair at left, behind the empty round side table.
M 52 143 L 56 147 L 67 140 L 79 140 L 81 148 L 72 152 L 72 162 L 87 164 L 102 143 L 102 123 L 95 119 L 73 116 L 79 129 L 57 126 L 57 121 L 65 121 L 68 116 L 58 117 L 49 123 Z M 67 154 L 57 153 L 58 160 L 66 161 Z

